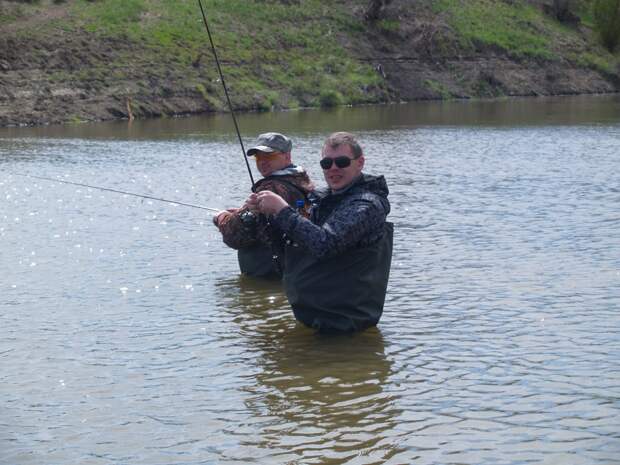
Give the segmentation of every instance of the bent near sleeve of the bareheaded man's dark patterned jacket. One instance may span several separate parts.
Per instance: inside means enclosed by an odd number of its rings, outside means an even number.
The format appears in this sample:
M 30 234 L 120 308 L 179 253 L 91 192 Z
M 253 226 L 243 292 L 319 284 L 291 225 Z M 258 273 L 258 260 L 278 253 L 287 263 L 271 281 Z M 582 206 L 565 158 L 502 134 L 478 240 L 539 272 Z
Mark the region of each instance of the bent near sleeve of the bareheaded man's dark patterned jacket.
M 290 207 L 282 209 L 273 221 L 310 254 L 323 259 L 354 248 L 380 231 L 386 216 L 379 200 L 358 197 L 336 208 L 322 225 L 312 223 Z

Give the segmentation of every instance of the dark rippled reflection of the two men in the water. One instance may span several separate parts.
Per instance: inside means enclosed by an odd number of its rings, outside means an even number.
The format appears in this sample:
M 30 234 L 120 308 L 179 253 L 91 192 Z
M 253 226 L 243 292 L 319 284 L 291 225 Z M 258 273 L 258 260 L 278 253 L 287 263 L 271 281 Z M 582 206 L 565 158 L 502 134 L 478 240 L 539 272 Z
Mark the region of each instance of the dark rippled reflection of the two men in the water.
M 256 352 L 246 406 L 260 432 L 243 440 L 280 463 L 377 463 L 394 456 L 399 411 L 384 392 L 391 363 L 377 328 L 322 336 L 295 322 L 280 283 L 239 277 L 217 286 L 218 305 Z M 259 433 L 259 434 L 256 434 Z

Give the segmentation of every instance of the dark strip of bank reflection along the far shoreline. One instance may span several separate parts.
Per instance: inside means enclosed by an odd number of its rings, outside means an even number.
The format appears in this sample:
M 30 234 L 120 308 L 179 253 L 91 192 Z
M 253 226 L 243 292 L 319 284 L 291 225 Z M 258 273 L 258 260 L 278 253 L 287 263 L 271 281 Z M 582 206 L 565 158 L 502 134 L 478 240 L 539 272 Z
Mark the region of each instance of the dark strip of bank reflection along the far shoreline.
M 401 105 L 338 107 L 244 113 L 244 135 L 253 138 L 277 128 L 284 133 L 377 131 L 422 126 L 535 126 L 613 123 L 620 119 L 620 96 L 510 98 L 505 100 L 421 101 Z M 230 140 L 230 115 L 92 123 L 35 128 L 0 128 L 0 137 L 177 139 L 205 133 Z

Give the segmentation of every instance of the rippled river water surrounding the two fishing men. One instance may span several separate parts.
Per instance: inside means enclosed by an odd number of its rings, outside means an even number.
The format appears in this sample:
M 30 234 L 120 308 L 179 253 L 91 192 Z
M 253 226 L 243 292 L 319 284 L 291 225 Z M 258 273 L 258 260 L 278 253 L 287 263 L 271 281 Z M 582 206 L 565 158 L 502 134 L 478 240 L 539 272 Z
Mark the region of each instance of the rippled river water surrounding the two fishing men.
M 300 326 L 204 210 L 15 174 L 235 206 L 228 116 L 2 129 L 0 464 L 620 463 L 618 96 L 239 124 L 319 184 L 358 135 L 395 223 L 379 326 Z

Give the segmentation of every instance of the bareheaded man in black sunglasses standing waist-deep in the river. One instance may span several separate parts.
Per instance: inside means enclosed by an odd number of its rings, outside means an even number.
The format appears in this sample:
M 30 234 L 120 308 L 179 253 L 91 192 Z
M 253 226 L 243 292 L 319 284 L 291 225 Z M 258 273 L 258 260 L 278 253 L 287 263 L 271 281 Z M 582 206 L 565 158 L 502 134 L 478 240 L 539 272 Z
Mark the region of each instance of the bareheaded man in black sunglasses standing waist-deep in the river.
M 362 172 L 364 154 L 346 132 L 327 138 L 320 161 L 327 188 L 310 218 L 273 192 L 246 206 L 285 233 L 284 284 L 295 317 L 320 332 L 359 331 L 379 322 L 392 259 L 393 225 L 383 176 Z

